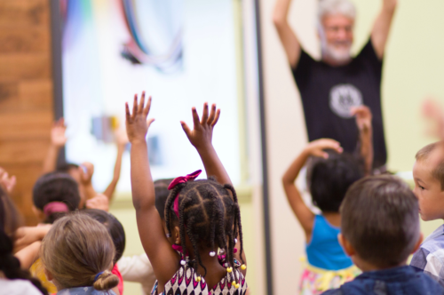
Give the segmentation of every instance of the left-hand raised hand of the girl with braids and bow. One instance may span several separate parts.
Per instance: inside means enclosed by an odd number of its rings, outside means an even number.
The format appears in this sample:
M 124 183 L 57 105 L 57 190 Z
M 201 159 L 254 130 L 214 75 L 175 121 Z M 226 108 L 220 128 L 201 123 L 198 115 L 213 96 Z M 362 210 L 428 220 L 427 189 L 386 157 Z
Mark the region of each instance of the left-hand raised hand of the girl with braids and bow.
M 147 120 L 150 108 L 151 97 L 148 98 L 147 106 L 145 106 L 145 92 L 142 92 L 140 103 L 138 103 L 138 95 L 134 95 L 132 114 L 130 113 L 128 102 L 125 104 L 126 133 L 131 143 L 135 141 L 146 141 L 148 128 L 155 121 L 153 118 Z

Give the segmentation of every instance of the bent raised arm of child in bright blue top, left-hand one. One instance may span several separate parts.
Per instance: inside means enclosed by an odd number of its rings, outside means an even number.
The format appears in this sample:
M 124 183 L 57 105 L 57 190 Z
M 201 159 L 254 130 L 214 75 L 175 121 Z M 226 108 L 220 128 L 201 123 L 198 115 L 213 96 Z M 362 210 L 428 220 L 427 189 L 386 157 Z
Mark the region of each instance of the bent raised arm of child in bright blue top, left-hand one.
M 324 149 L 334 149 L 338 153 L 342 153 L 340 144 L 335 140 L 314 140 L 309 143 L 296 160 L 291 163 L 289 169 L 285 171 L 282 177 L 282 185 L 287 195 L 289 205 L 296 215 L 301 227 L 304 229 L 306 241 L 310 240 L 313 230 L 314 213 L 305 204 L 302 196 L 297 189 L 295 181 L 302 167 L 304 167 L 306 160 L 311 156 L 319 156 L 328 158 L 329 154 L 324 152 Z

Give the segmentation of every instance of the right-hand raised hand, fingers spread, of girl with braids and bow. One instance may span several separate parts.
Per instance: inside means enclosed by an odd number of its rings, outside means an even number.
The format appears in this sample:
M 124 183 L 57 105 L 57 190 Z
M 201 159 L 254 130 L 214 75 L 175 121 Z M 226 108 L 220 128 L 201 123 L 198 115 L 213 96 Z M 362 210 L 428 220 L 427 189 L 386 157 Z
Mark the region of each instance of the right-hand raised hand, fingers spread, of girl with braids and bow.
M 210 116 L 208 114 L 208 103 L 203 104 L 202 120 L 199 121 L 199 115 L 195 108 L 192 108 L 194 130 L 190 130 L 185 122 L 180 121 L 186 137 L 191 144 L 199 150 L 211 146 L 213 128 L 218 123 L 220 109 L 216 110 L 216 104 L 211 106 Z

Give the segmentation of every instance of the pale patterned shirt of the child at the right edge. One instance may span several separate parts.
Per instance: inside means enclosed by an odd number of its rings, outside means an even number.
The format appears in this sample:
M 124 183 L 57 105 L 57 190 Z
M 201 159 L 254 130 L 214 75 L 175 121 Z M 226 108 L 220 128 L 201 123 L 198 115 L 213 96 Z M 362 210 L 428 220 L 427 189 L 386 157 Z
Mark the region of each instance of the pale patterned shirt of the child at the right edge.
M 429 235 L 413 255 L 410 267 L 444 286 L 444 225 Z

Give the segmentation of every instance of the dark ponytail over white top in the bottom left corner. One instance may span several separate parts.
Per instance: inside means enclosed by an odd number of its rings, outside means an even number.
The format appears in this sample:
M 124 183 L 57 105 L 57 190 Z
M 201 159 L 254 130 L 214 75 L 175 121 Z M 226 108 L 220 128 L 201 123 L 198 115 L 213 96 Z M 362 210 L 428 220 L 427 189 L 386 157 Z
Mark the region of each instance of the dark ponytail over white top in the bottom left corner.
M 27 270 L 20 268 L 20 260 L 12 255 L 12 239 L 0 228 L 0 271 L 10 280 L 21 279 L 32 283 L 44 295 L 48 291 L 44 289 L 42 283 L 35 277 L 32 277 Z

